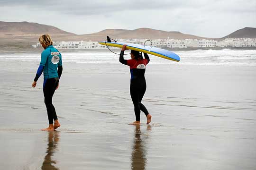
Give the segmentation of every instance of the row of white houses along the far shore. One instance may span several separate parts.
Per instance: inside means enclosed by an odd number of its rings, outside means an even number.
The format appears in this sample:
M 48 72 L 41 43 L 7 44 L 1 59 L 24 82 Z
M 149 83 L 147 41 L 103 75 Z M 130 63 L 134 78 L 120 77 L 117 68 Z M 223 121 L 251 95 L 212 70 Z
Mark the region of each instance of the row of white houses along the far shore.
M 136 44 L 151 45 L 159 48 L 214 48 L 214 47 L 256 47 L 256 39 L 252 38 L 227 38 L 222 41 L 216 40 L 197 40 L 197 39 L 155 39 L 147 41 L 146 39 L 117 39 L 118 42 L 130 42 Z M 33 45 L 35 48 L 40 47 L 41 44 Z M 105 49 L 105 45 L 98 42 L 54 42 L 57 49 Z M 113 47 L 111 47 L 113 48 Z

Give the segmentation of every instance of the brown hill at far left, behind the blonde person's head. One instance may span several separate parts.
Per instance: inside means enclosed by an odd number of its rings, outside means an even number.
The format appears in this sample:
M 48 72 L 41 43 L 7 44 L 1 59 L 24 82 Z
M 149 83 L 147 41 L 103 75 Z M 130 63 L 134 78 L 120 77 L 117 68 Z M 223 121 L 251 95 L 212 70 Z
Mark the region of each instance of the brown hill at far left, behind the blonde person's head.
M 33 35 L 33 34 L 61 34 L 75 35 L 54 26 L 47 26 L 29 22 L 2 22 L 0 21 L 0 35 Z

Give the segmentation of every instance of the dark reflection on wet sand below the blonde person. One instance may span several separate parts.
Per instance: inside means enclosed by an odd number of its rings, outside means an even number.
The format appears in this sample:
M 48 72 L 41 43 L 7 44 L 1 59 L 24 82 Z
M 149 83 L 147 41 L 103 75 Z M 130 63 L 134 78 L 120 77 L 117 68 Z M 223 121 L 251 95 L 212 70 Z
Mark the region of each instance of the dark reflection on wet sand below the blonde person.
M 42 164 L 42 170 L 59 170 L 59 168 L 55 167 L 56 161 L 52 160 L 52 156 L 57 150 L 58 142 L 59 142 L 59 132 L 53 131 L 48 132 L 48 147 L 46 149 L 45 160 Z

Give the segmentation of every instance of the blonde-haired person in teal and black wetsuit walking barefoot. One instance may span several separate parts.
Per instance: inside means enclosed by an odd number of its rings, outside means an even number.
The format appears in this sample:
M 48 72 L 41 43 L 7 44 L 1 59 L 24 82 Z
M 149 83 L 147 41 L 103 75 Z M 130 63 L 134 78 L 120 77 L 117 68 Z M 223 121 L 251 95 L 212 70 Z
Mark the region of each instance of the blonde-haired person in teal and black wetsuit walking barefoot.
M 39 42 L 45 50 L 41 53 L 40 65 L 37 69 L 37 74 L 34 82 L 32 83 L 32 87 L 36 87 L 38 78 L 41 76 L 42 72 L 44 72 L 43 91 L 49 127 L 42 130 L 54 131 L 56 128 L 60 127 L 52 99 L 55 90 L 57 90 L 59 87 L 59 79 L 63 69 L 62 57 L 61 53 L 54 48 L 50 35 L 41 35 Z

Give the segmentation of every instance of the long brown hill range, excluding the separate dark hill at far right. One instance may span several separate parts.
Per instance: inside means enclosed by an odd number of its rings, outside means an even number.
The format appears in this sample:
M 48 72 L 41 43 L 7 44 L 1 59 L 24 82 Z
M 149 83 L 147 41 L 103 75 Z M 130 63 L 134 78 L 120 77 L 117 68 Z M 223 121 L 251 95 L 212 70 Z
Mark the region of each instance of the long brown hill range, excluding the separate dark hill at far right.
M 177 31 L 161 31 L 151 28 L 138 28 L 135 30 L 126 29 L 105 29 L 98 33 L 77 35 L 63 31 L 54 26 L 47 26 L 38 23 L 29 22 L 2 22 L 0 21 L 0 36 L 11 36 L 9 38 L 24 38 L 31 39 L 33 36 L 40 34 L 50 34 L 55 38 L 54 41 L 103 41 L 106 39 L 106 35 L 110 38 L 124 38 L 124 39 L 202 39 L 190 34 L 182 34 Z M 21 37 L 20 37 L 21 36 Z M 29 37 L 26 37 L 29 36 Z M 208 38 L 206 38 L 208 39 Z M 37 41 L 37 40 L 36 40 Z

